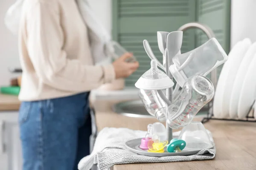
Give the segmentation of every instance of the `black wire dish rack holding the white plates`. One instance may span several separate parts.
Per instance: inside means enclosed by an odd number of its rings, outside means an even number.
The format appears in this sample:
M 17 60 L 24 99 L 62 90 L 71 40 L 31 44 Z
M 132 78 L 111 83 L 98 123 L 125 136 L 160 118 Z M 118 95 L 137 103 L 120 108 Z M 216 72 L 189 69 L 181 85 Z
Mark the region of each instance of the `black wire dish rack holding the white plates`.
M 250 112 L 253 110 L 253 105 L 255 104 L 255 100 L 253 102 L 253 104 L 251 105 L 250 107 L 250 110 L 248 111 L 246 117 L 244 119 L 231 119 L 231 118 L 215 118 L 214 115 L 213 115 L 213 100 L 210 102 L 209 104 L 209 110 L 207 112 L 207 116 L 204 117 L 202 119 L 202 123 L 206 123 L 206 122 L 209 122 L 209 120 L 224 120 L 224 121 L 239 121 L 239 122 L 256 122 L 256 117 L 254 116 L 249 116 L 250 115 Z M 256 108 L 254 108 L 256 109 Z

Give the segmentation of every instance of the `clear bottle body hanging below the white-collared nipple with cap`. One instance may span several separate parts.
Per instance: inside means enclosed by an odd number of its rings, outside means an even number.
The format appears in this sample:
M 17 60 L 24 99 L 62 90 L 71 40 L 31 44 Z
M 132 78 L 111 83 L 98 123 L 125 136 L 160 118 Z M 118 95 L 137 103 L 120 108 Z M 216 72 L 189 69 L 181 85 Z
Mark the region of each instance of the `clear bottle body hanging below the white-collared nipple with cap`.
M 155 116 L 160 122 L 166 120 L 167 104 L 156 90 L 140 89 L 139 96 L 149 114 Z

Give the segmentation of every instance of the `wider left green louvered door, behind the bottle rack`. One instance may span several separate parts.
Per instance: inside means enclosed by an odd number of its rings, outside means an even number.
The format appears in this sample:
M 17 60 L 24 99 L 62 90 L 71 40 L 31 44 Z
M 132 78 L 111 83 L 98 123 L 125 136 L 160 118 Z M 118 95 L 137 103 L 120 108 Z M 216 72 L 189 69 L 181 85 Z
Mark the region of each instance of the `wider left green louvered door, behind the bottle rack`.
M 140 68 L 126 79 L 134 86 L 150 68 L 150 59 L 143 48 L 148 40 L 157 59 L 163 60 L 157 45 L 157 31 L 176 31 L 185 23 L 195 21 L 196 0 L 113 0 L 113 39 L 134 53 Z M 183 35 L 182 52 L 195 47 L 193 31 Z

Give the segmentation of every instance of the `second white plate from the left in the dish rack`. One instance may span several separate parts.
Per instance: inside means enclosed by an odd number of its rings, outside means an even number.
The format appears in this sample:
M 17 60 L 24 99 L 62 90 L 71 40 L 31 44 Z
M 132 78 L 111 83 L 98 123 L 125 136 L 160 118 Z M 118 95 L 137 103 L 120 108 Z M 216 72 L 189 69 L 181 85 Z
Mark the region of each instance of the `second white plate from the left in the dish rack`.
M 241 61 L 244 58 L 244 55 L 248 51 L 251 44 L 252 42 L 250 41 L 250 39 L 246 38 L 241 42 L 241 45 L 239 43 L 237 46 L 235 46 L 236 49 L 230 52 L 229 61 L 228 61 L 230 64 L 230 69 L 227 70 L 227 78 L 225 79 L 226 83 L 222 87 L 224 88 L 222 108 L 220 108 L 222 118 L 227 118 L 229 116 L 236 116 L 236 115 L 229 114 L 231 92 L 232 92 L 233 84 L 236 79 L 236 74 L 237 74 L 237 71 L 239 70 Z

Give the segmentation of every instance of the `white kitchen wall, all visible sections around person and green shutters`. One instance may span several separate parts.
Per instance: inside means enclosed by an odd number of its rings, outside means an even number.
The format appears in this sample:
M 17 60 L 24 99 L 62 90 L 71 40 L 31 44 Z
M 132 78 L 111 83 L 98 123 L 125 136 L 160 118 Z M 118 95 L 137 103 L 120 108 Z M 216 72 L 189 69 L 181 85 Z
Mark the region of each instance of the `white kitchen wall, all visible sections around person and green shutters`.
M 111 33 L 111 0 L 89 0 L 97 17 L 103 26 Z M 10 77 L 9 67 L 19 67 L 17 37 L 6 29 L 4 16 L 15 0 L 0 1 L 0 85 L 8 85 Z M 250 37 L 256 41 L 256 0 L 232 0 L 231 4 L 231 47 L 239 40 Z

